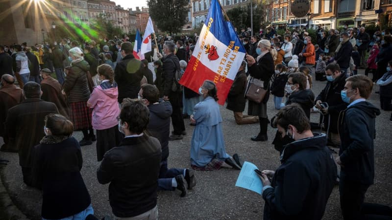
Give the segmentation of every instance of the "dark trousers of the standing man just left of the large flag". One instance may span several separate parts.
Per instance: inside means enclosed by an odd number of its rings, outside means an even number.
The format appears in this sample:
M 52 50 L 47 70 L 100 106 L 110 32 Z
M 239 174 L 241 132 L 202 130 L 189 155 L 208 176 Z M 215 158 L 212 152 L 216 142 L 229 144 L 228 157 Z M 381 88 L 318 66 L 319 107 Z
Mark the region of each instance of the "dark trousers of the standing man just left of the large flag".
M 169 95 L 170 104 L 172 104 L 172 124 L 173 124 L 173 134 L 182 134 L 185 131 L 184 118 L 182 117 L 181 111 L 181 99 L 182 93 L 172 92 Z

